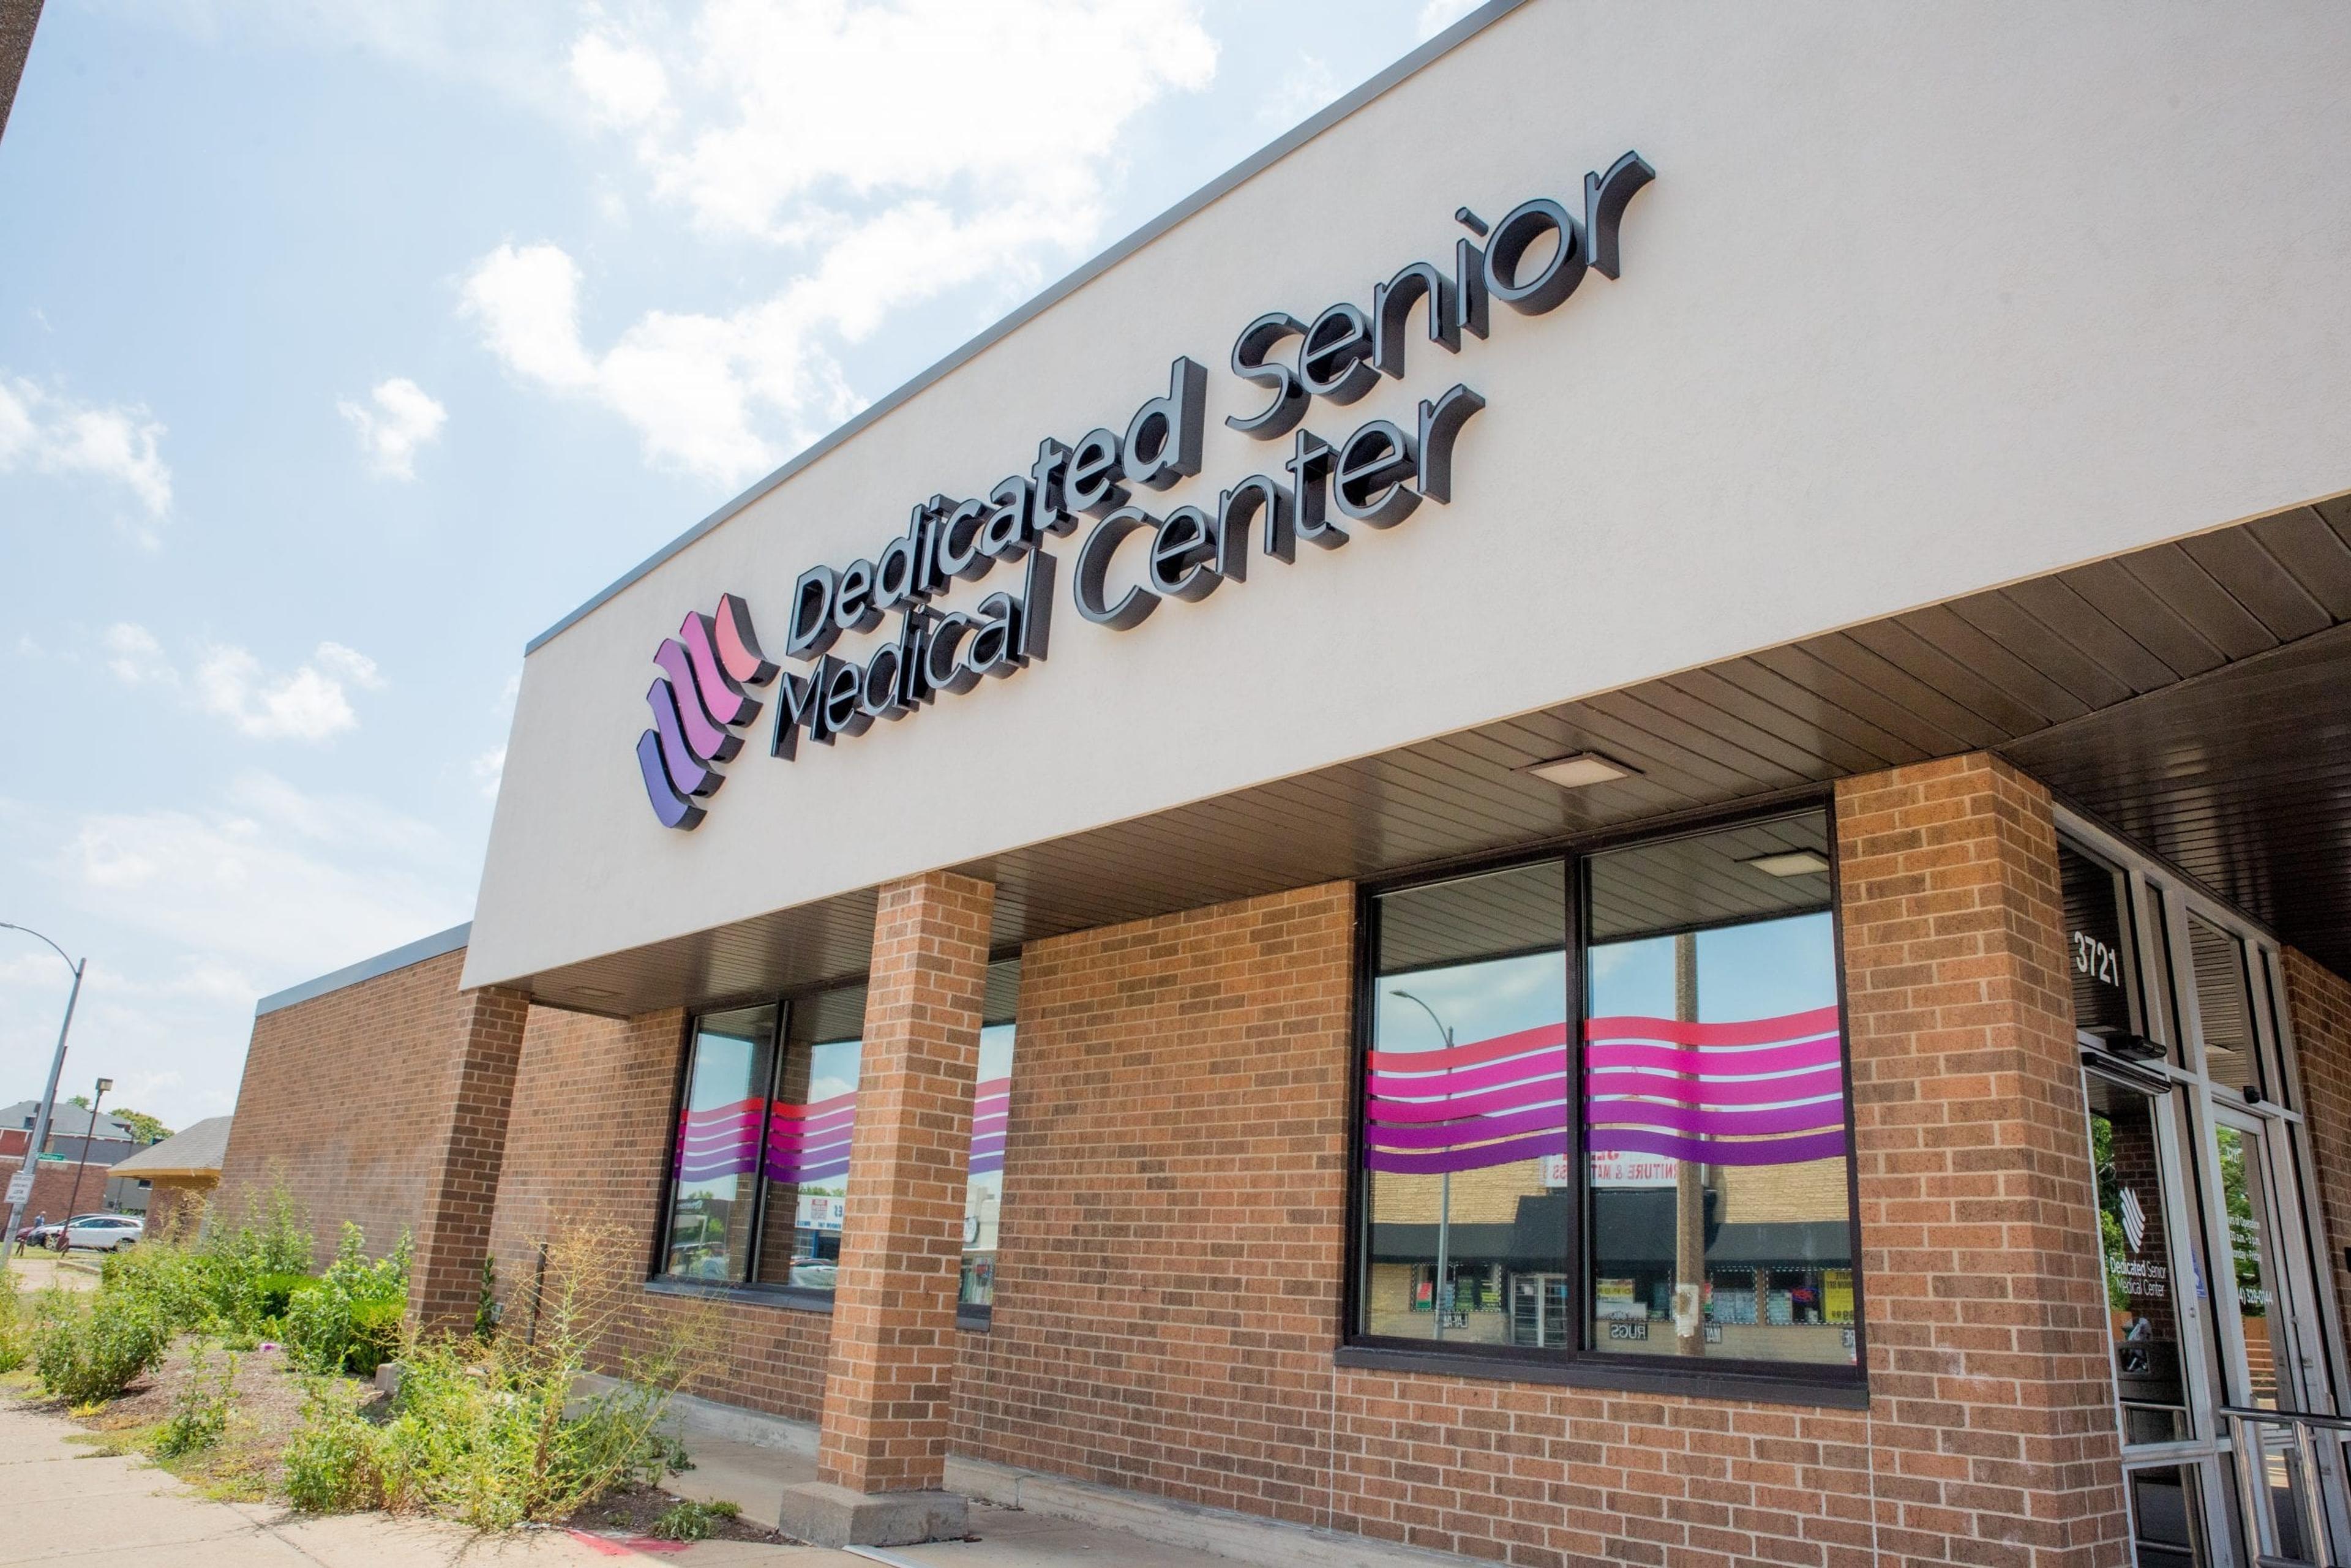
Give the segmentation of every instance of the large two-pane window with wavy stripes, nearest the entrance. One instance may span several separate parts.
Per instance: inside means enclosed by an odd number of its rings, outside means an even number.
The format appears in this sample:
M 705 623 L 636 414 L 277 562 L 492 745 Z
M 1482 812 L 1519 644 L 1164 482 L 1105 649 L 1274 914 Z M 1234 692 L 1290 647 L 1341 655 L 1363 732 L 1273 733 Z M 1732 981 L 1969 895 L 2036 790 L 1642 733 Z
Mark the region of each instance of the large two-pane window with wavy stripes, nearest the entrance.
M 1368 917 L 1361 1340 L 1857 1366 L 1824 811 Z

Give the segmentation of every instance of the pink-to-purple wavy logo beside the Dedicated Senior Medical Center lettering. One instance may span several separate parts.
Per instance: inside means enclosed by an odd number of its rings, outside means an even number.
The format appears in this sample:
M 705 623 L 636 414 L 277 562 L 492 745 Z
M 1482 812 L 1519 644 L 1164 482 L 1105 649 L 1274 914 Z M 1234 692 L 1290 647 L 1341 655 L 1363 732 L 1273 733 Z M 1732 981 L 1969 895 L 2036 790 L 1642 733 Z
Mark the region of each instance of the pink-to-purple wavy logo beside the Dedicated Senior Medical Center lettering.
M 726 783 L 717 771 L 743 750 L 734 733 L 759 717 L 759 701 L 745 686 L 776 679 L 776 665 L 759 651 L 750 609 L 736 595 L 719 595 L 715 616 L 689 614 L 675 637 L 654 654 L 661 675 L 644 693 L 654 729 L 637 736 L 637 771 L 644 797 L 663 827 L 691 832 L 703 806 Z

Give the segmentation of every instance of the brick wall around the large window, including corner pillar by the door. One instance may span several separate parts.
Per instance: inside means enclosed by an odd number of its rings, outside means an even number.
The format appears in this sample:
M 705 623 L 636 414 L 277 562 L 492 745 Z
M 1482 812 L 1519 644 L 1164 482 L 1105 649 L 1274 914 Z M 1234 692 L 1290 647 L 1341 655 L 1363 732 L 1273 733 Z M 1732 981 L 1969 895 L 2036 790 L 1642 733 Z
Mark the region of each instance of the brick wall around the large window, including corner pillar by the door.
M 1841 811 L 1867 1413 L 1333 1368 L 1354 896 L 1321 886 L 1023 954 L 959 1441 L 1514 1563 L 2121 1563 L 2048 797 L 1972 757 Z

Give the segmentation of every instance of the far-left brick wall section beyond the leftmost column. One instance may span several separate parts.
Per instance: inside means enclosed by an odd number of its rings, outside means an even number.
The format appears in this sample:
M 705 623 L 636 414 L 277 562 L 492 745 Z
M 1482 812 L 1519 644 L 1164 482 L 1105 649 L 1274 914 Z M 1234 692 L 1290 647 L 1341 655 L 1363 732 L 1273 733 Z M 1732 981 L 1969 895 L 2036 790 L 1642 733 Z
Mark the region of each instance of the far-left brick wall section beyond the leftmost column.
M 343 1220 L 386 1253 L 418 1232 L 447 1140 L 458 971 L 447 952 L 254 1018 L 237 1119 L 221 1161 L 228 1218 L 284 1175 L 310 1211 L 317 1260 Z

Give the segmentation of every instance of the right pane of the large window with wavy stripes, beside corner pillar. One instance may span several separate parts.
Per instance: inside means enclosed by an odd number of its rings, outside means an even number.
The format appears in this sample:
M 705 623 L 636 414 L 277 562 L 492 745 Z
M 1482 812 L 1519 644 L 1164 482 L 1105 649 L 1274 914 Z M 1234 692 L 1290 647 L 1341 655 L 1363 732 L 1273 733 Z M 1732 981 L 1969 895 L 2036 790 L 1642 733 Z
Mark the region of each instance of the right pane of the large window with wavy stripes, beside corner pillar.
M 1596 856 L 1592 1349 L 1853 1366 L 1827 818 Z

